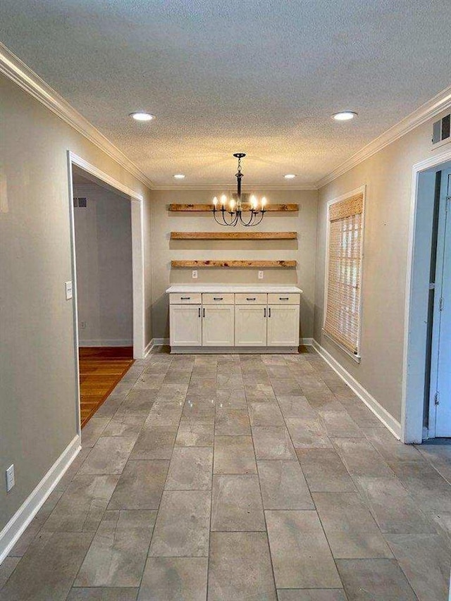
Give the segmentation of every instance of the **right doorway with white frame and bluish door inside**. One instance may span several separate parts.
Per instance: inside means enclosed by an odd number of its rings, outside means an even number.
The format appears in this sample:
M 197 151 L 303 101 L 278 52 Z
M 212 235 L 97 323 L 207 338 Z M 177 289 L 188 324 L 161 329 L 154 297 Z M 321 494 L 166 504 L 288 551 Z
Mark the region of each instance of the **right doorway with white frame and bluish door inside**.
M 402 441 L 451 437 L 451 149 L 413 168 Z

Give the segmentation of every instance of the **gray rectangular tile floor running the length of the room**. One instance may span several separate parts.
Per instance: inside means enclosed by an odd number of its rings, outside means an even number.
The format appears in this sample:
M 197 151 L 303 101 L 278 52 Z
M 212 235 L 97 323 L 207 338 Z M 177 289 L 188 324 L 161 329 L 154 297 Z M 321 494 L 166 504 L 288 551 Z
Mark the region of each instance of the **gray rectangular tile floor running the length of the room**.
M 152 354 L 0 566 L 1 601 L 445 601 L 451 445 L 313 351 Z

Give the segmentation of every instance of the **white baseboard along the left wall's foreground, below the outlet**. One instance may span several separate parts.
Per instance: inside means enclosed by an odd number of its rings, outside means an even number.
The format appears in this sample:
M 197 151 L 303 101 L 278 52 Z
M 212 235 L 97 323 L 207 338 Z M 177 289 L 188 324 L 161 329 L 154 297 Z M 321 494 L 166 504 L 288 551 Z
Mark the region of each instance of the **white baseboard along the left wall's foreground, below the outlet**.
M 45 500 L 47 500 L 47 497 L 49 497 L 51 491 L 54 490 L 58 482 L 61 480 L 70 464 L 73 462 L 75 457 L 77 457 L 80 449 L 80 435 L 76 435 L 66 449 L 61 453 L 60 457 L 56 459 L 53 466 L 51 466 L 35 490 L 33 490 L 31 495 L 25 499 L 17 512 L 0 532 L 0 564 L 3 562 L 6 555 L 8 555 L 8 553 L 11 551 L 13 546 L 16 545 L 20 535 L 23 533 L 30 521 L 32 521 L 32 519 L 35 517 Z

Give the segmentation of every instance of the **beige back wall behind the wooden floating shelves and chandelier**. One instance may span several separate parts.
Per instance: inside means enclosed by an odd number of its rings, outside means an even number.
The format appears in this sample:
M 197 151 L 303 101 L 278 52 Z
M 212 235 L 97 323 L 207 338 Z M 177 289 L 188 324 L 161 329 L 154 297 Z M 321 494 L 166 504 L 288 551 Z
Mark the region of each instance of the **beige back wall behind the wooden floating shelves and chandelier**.
M 256 194 L 259 191 L 255 191 Z M 169 336 L 166 288 L 175 283 L 237 283 L 299 285 L 302 337 L 313 335 L 316 190 L 264 192 L 268 202 L 297 203 L 299 211 L 267 213 L 257 231 L 297 231 L 297 240 L 170 240 L 171 231 L 222 231 L 211 213 L 176 213 L 167 206 L 175 203 L 211 202 L 221 190 L 174 190 L 152 192 L 152 260 L 154 284 L 154 337 Z M 238 226 L 237 226 L 238 227 Z M 245 230 L 241 226 L 242 230 Z M 191 269 L 171 269 L 175 259 L 296 259 L 297 269 L 266 269 L 264 280 L 257 269 L 204 268 L 192 280 Z

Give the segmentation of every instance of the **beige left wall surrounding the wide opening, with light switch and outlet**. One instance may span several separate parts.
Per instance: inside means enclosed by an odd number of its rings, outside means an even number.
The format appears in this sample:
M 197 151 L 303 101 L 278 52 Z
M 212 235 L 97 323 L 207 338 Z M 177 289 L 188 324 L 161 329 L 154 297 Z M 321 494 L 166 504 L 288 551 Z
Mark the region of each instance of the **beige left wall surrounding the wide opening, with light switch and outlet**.
M 152 337 L 149 190 L 0 78 L 0 530 L 77 431 L 67 151 L 144 195 L 146 337 Z

